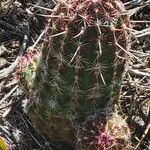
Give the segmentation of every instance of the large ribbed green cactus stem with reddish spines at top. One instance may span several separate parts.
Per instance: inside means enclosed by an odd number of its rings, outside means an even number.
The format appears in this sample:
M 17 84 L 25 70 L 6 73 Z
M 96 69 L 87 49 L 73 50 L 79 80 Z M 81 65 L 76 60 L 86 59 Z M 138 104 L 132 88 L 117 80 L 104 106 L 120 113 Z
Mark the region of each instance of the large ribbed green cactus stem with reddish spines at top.
M 75 119 L 118 100 L 129 18 L 119 0 L 60 0 L 47 26 L 28 114 L 42 133 L 72 141 Z

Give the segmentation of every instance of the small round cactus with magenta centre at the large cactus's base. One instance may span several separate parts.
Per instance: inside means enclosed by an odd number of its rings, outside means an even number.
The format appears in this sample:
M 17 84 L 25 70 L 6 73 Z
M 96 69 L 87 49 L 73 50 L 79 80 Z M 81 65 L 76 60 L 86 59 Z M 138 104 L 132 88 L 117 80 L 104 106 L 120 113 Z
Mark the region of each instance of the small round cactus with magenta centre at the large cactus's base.
M 131 134 L 125 119 L 118 112 L 101 109 L 79 126 L 77 150 L 131 149 Z

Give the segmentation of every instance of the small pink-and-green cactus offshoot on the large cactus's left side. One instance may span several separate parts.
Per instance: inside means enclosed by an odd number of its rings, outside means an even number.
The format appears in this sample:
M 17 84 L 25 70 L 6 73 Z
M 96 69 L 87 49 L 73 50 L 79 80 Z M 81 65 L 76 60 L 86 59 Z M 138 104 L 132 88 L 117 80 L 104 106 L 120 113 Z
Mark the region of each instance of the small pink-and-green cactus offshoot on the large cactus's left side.
M 39 52 L 26 52 L 14 73 L 14 77 L 20 81 L 20 87 L 25 93 L 29 93 L 33 87 L 39 56 Z

